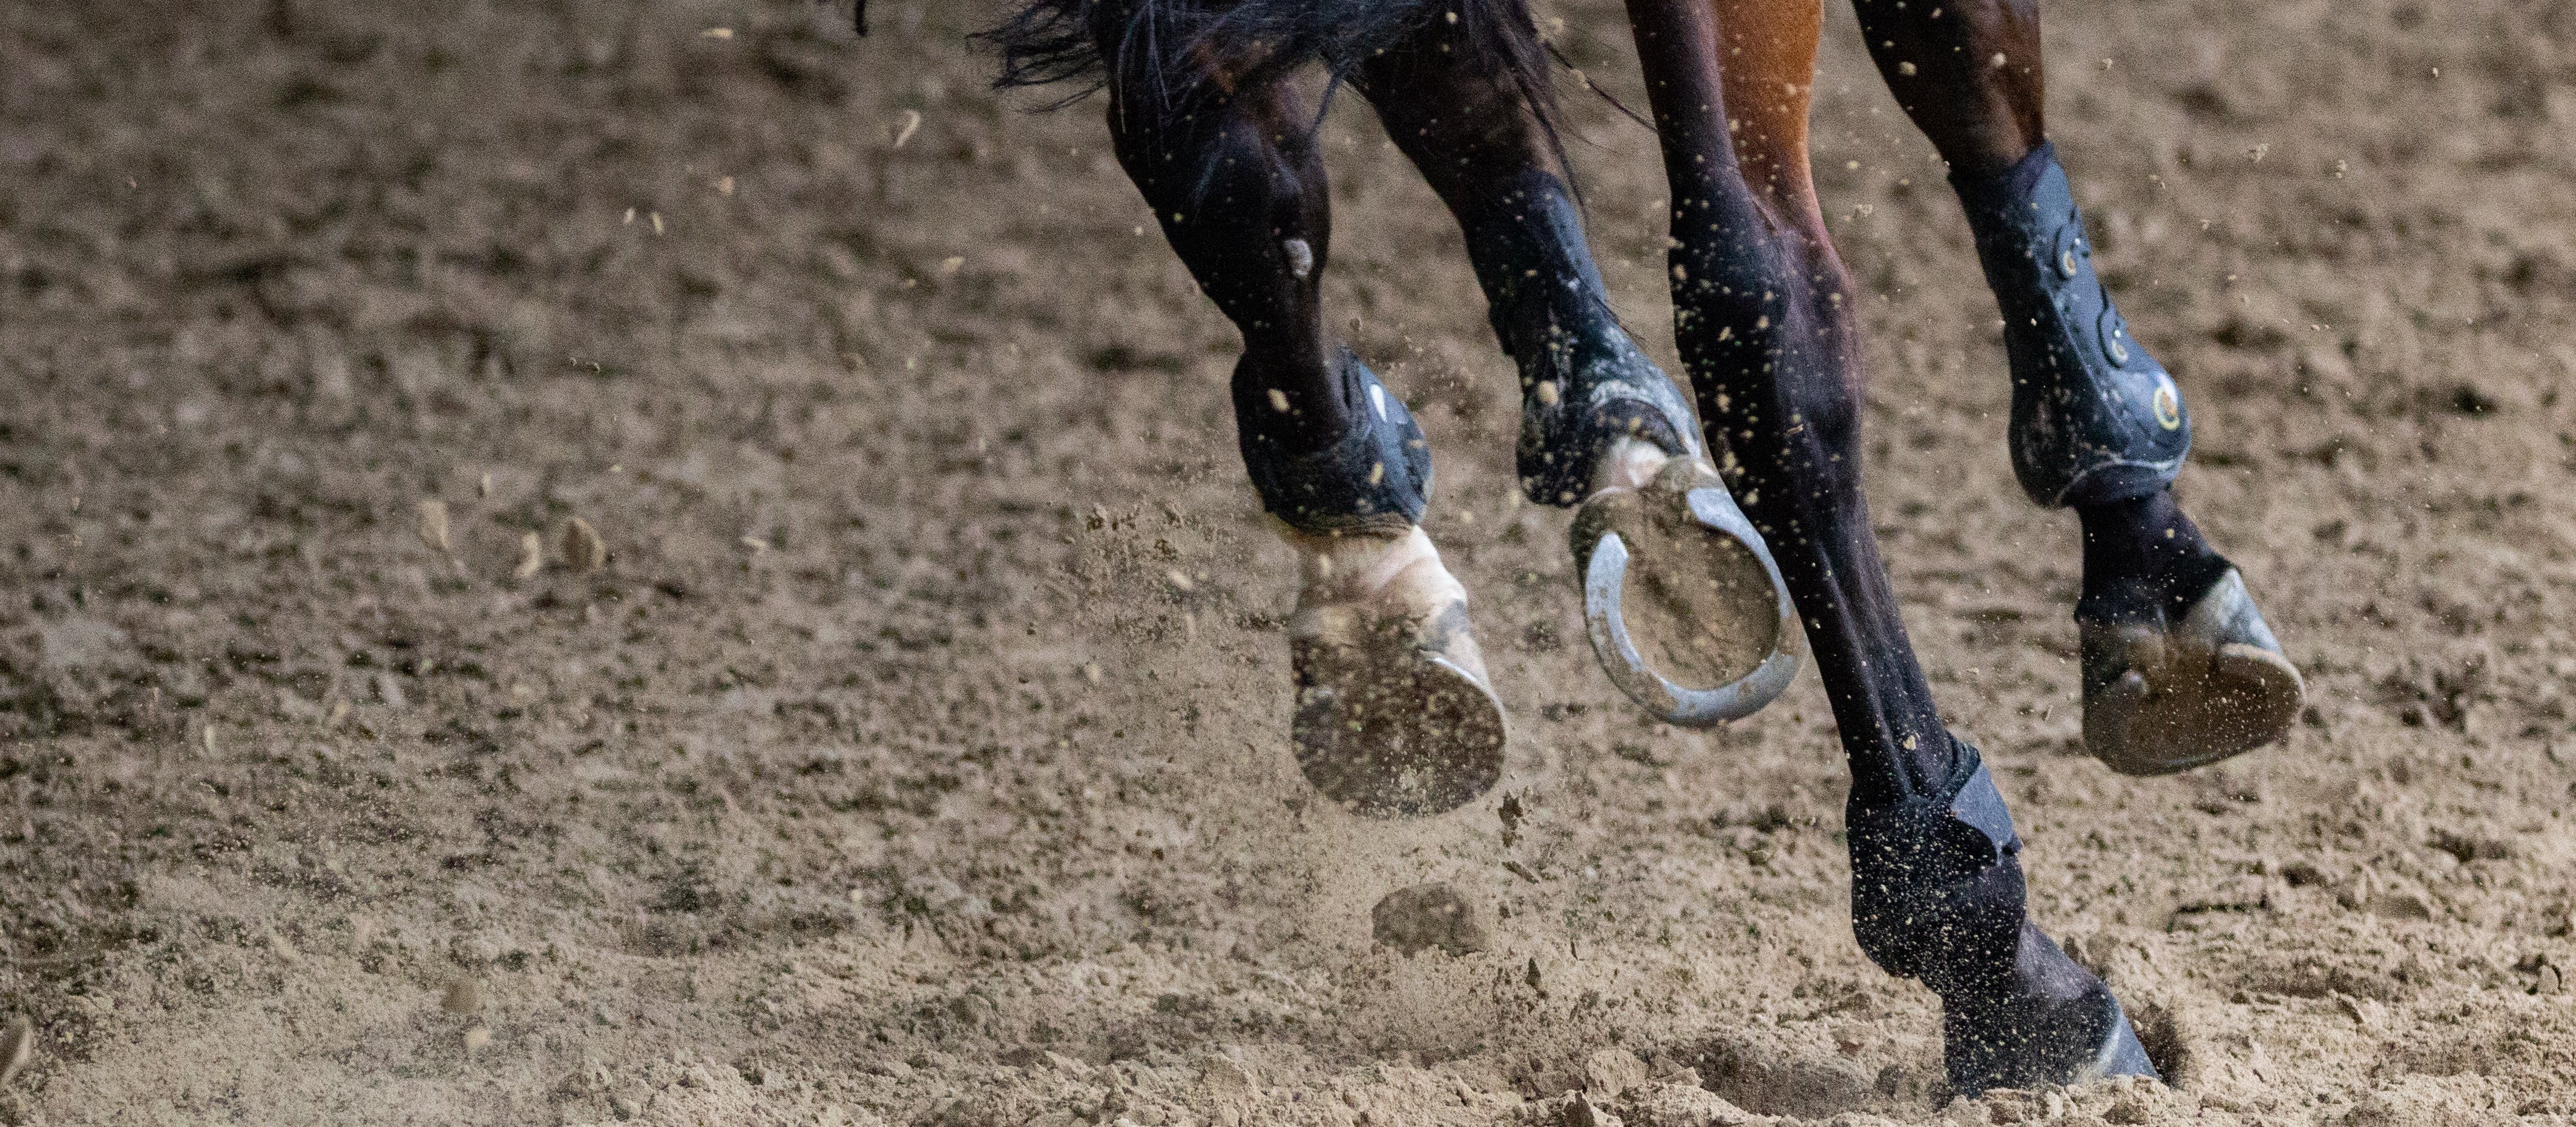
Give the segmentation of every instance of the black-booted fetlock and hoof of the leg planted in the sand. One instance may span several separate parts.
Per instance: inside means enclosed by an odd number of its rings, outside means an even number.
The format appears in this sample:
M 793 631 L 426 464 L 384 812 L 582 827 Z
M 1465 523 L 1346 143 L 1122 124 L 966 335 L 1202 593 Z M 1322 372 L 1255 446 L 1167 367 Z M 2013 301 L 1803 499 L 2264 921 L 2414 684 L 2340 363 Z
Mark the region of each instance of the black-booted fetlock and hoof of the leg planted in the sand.
M 2110 988 L 2030 924 L 2012 813 L 1976 749 L 1958 751 L 1947 798 L 1847 811 L 1860 949 L 1940 996 L 1965 1096 L 2156 1076 Z

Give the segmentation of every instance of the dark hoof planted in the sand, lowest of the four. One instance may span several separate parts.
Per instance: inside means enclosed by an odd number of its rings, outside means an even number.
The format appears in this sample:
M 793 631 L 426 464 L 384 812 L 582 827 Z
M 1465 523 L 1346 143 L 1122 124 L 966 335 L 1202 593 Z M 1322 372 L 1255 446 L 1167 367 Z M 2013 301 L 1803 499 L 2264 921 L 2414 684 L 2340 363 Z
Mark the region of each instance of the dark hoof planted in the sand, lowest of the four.
M 2146 1045 L 2089 970 L 2038 926 L 2022 924 L 2012 985 L 1991 1003 L 1942 1003 L 1950 1088 L 2040 1088 L 2112 1076 L 2156 1076 Z

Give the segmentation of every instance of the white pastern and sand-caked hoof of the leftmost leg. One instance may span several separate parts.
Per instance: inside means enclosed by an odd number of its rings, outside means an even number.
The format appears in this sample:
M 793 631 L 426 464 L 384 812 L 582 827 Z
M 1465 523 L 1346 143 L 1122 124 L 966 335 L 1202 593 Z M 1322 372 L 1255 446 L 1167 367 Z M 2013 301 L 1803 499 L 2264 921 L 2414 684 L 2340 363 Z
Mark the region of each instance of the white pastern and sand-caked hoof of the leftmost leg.
M 1368 602 L 1301 605 L 1288 633 L 1288 736 L 1324 798 L 1373 818 L 1430 816 L 1502 780 L 1502 700 L 1484 679 L 1466 589 L 1437 553 Z

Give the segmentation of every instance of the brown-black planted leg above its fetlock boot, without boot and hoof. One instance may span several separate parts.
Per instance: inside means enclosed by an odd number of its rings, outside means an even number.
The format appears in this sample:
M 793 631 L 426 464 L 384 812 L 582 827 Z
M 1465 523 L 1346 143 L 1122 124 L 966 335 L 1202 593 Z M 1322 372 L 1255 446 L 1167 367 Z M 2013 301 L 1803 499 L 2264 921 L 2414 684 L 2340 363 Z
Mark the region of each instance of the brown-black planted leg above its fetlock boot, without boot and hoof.
M 1628 13 L 1672 180 L 1682 360 L 1806 620 L 1852 756 L 1852 800 L 1945 795 L 1958 751 L 1860 497 L 1860 342 L 1806 172 L 1819 8 L 1631 0 Z

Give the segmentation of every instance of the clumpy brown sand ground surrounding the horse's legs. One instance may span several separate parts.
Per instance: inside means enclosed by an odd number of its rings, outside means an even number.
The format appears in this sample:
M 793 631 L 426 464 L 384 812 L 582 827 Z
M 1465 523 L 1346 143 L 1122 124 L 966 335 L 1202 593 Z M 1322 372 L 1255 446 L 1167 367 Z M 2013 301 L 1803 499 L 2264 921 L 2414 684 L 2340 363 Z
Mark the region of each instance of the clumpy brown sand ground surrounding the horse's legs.
M 1618 5 L 1543 8 L 1638 105 Z M 1968 1104 L 1852 947 L 1814 674 L 1682 733 L 1595 669 L 1458 234 L 1352 98 L 1329 322 L 1422 409 L 1515 723 L 1430 821 L 1298 780 L 1234 334 L 1097 103 L 987 93 L 979 5 L 873 15 L 0 5 L 0 1119 L 2576 1114 L 2576 10 L 2048 5 L 2184 502 L 2316 692 L 2172 780 L 2079 749 L 2076 527 L 1832 15 L 1909 628 L 2177 1081 Z M 1651 136 L 1569 105 L 1669 358 Z M 1481 944 L 1370 942 L 1427 883 Z

